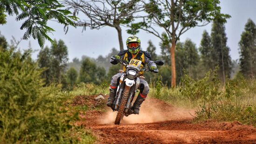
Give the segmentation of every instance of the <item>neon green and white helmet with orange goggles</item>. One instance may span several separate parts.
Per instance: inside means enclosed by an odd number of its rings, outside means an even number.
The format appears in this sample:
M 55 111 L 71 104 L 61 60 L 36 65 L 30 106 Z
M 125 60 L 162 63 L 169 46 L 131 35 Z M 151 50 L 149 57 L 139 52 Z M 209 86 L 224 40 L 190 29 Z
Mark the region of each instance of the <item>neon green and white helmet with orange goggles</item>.
M 137 36 L 130 36 L 126 40 L 126 46 L 133 55 L 137 54 L 140 49 L 140 40 Z

